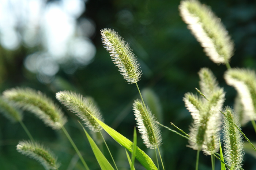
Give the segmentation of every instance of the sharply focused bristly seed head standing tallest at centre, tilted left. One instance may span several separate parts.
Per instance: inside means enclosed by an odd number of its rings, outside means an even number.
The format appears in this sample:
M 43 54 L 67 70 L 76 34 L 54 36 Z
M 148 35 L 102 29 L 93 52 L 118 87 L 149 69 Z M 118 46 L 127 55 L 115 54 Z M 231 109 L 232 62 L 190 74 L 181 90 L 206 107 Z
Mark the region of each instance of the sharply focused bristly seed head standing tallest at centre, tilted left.
M 124 39 L 113 29 L 102 29 L 101 35 L 105 48 L 124 79 L 129 83 L 138 82 L 142 73 L 129 44 L 126 44 Z

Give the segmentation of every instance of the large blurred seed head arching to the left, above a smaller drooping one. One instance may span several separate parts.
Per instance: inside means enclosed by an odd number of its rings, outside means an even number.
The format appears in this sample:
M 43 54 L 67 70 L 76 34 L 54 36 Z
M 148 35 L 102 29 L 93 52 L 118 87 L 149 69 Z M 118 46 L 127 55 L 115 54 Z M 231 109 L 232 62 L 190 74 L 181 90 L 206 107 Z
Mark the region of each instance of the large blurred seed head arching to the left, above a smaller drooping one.
M 3 96 L 23 110 L 34 113 L 53 129 L 61 129 L 67 122 L 59 106 L 40 91 L 31 88 L 12 88 L 5 90 Z

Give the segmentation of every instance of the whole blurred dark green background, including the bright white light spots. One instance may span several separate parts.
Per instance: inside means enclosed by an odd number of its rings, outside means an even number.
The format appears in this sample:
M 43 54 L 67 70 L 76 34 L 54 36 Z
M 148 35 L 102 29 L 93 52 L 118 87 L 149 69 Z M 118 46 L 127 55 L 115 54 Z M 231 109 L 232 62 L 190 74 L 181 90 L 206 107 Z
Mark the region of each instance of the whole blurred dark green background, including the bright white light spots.
M 222 19 L 235 43 L 231 67 L 256 68 L 255 0 L 204 0 Z M 135 116 L 133 100 L 138 98 L 134 84 L 127 84 L 101 43 L 100 30 L 114 29 L 138 57 L 142 78 L 138 82 L 146 102 L 159 122 L 173 122 L 188 133 L 191 115 L 182 98 L 196 93 L 197 72 L 210 68 L 226 91 L 225 105 L 233 106 L 236 92 L 223 80 L 226 67 L 217 66 L 187 29 L 179 12 L 178 0 L 0 0 L 0 91 L 12 87 L 31 87 L 55 99 L 60 90 L 92 96 L 105 123 L 132 140 Z M 60 103 L 58 103 L 60 105 Z M 64 107 L 71 137 L 91 169 L 99 169 L 77 118 Z M 61 131 L 53 131 L 29 112 L 24 123 L 33 137 L 59 157 L 60 170 L 82 169 L 78 156 Z M 191 170 L 196 151 L 187 147 L 185 138 L 161 128 L 161 146 L 167 170 Z M 256 141 L 251 124 L 243 127 Z M 93 134 L 91 134 L 93 135 Z M 117 166 L 129 169 L 125 150 L 108 135 L 106 140 Z M 139 134 L 138 134 L 139 136 Z M 97 137 L 95 137 L 97 138 Z M 0 115 L 0 169 L 44 169 L 38 162 L 16 152 L 16 145 L 28 137 L 20 124 Z M 100 144 L 101 145 L 101 144 Z M 153 160 L 142 139 L 138 146 Z M 103 147 L 107 153 L 105 147 Z M 106 154 L 106 157 L 110 157 Z M 245 170 L 256 169 L 254 156 L 244 157 Z M 136 169 L 143 169 L 136 163 Z M 200 170 L 211 169 L 209 156 L 200 154 Z M 216 169 L 220 169 L 216 161 Z

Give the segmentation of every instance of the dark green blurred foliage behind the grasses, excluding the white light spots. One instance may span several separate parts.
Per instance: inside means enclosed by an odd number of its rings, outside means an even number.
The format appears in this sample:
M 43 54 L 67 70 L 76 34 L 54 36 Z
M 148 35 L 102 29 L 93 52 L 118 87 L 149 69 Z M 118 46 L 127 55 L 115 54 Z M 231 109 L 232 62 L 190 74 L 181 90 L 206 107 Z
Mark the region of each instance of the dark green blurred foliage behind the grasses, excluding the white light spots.
M 254 0 L 204 0 L 202 3 L 211 6 L 234 40 L 236 51 L 231 58 L 231 67 L 255 69 L 256 2 Z M 191 115 L 185 109 L 182 98 L 185 92 L 196 93 L 195 87 L 199 86 L 197 72 L 200 68 L 208 67 L 217 76 L 220 85 L 226 91 L 225 105 L 233 105 L 236 92 L 223 80 L 226 67 L 217 66 L 211 62 L 187 29 L 187 25 L 181 20 L 178 12 L 179 4 L 178 0 L 88 0 L 86 11 L 78 20 L 88 17 L 95 23 L 96 31 L 91 39 L 97 48 L 97 53 L 93 62 L 73 74 L 66 74 L 60 70 L 51 83 L 44 84 L 40 83 L 37 76 L 26 70 L 23 65 L 31 49 L 21 46 L 15 51 L 8 51 L 0 47 L 0 90 L 2 92 L 16 86 L 31 87 L 53 99 L 59 90 L 72 90 L 90 95 L 101 108 L 105 122 L 132 140 L 135 126 L 132 102 L 138 98 L 138 92 L 134 84 L 124 82 L 108 52 L 103 48 L 99 30 L 112 28 L 129 42 L 138 57 L 143 72 L 138 84 L 141 89 L 150 89 L 154 93 L 154 98 L 159 101 L 157 106 L 159 109 L 156 109 L 158 110 L 156 114 L 162 114 L 160 115 L 162 119 L 159 117 L 159 121 L 169 127 L 171 127 L 170 122 L 173 122 L 188 132 Z M 148 97 L 148 100 L 151 98 Z M 64 107 L 63 110 L 69 116 L 66 127 L 82 151 L 84 159 L 91 169 L 98 169 L 89 143 L 75 116 Z M 44 142 L 59 156 L 59 161 L 62 163 L 60 169 L 68 169 L 72 167 L 72 163 L 79 162 L 62 133 L 45 127 L 40 120 L 28 112 L 24 115 L 24 123 L 34 138 Z M 251 125 L 243 129 L 249 139 L 256 141 Z M 161 149 L 166 169 L 194 169 L 196 151 L 186 147 L 187 140 L 166 129 L 161 131 L 163 134 Z M 43 169 L 37 162 L 16 152 L 16 145 L 22 139 L 28 139 L 28 137 L 20 125 L 11 124 L 0 116 L 1 169 Z M 117 166 L 128 167 L 123 148 L 113 142 L 113 139 L 108 138 L 108 142 L 117 160 Z M 137 145 L 146 153 L 154 155 L 143 146 L 139 138 Z M 219 162 L 216 162 L 218 167 Z M 255 158 L 246 155 L 243 168 L 256 169 L 254 162 Z M 74 169 L 82 169 L 81 167 L 78 164 Z M 210 157 L 200 155 L 199 168 L 210 169 Z

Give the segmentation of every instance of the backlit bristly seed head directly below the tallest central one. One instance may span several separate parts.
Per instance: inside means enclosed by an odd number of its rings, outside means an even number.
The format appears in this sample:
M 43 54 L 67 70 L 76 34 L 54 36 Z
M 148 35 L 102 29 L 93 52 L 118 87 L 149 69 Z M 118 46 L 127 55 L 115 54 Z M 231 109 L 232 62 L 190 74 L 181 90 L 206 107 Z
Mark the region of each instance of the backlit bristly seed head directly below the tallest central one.
M 133 103 L 133 111 L 144 144 L 150 149 L 156 149 L 161 145 L 162 137 L 155 116 L 138 99 Z

